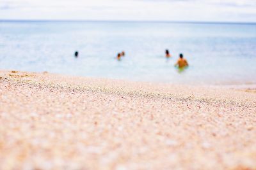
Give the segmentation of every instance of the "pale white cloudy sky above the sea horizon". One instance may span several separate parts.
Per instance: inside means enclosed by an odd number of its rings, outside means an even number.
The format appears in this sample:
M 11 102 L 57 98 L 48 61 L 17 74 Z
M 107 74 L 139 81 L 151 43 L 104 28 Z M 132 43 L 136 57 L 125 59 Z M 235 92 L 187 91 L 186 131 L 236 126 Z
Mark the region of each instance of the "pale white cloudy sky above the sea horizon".
M 0 0 L 0 20 L 256 22 L 256 0 Z

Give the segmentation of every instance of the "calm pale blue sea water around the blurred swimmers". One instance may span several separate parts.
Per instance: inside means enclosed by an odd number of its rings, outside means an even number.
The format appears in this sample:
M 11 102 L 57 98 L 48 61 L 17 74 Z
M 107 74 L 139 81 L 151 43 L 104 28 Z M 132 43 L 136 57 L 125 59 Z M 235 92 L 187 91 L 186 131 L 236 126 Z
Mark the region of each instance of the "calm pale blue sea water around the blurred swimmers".
M 164 57 L 166 48 L 171 59 Z M 126 55 L 117 61 L 122 50 Z M 179 53 L 189 62 L 184 71 L 173 66 Z M 0 69 L 182 84 L 256 84 L 256 24 L 2 21 Z

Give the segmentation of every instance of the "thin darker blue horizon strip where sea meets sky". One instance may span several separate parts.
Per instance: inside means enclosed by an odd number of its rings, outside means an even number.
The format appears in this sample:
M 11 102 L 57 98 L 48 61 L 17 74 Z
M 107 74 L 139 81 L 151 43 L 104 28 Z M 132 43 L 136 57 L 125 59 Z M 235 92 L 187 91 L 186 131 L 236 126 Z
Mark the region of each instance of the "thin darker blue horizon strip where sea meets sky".
M 256 24 L 256 22 L 229 22 L 229 21 L 186 21 L 186 20 L 19 20 L 0 19 L 0 22 L 152 22 L 173 24 Z

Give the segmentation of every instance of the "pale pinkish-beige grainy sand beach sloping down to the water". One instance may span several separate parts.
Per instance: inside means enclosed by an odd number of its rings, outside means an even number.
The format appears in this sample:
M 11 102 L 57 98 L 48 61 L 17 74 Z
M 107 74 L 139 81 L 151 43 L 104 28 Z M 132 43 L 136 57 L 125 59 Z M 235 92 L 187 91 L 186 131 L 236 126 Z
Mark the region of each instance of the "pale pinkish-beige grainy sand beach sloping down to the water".
M 256 169 L 256 90 L 0 71 L 0 169 Z

